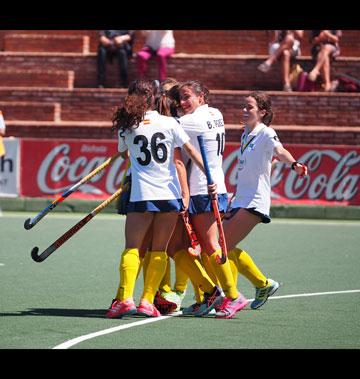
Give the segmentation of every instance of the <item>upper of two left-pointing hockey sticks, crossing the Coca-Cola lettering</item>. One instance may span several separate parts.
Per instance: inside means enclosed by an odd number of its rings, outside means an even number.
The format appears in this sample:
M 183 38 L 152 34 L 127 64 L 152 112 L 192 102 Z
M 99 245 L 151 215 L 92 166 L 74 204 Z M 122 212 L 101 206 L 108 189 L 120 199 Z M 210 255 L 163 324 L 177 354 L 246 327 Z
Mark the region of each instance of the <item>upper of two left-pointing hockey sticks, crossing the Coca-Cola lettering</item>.
M 116 158 L 119 157 L 119 155 L 120 155 L 120 153 L 117 153 L 113 157 L 107 159 L 103 164 L 101 164 L 100 166 L 98 166 L 97 168 L 95 168 L 93 171 L 91 171 L 89 174 L 87 174 L 84 178 L 82 178 L 79 182 L 77 182 L 76 184 L 74 184 L 66 192 L 64 192 L 62 195 L 60 195 L 49 206 L 47 206 L 45 209 L 43 209 L 41 212 L 39 212 L 34 218 L 32 218 L 32 219 L 28 218 L 27 220 L 25 220 L 24 228 L 26 230 L 29 230 L 33 226 L 35 226 L 44 216 L 46 216 L 50 211 L 52 211 L 59 203 L 61 203 L 62 201 L 64 201 L 73 192 L 75 192 L 81 185 L 83 185 L 84 183 L 88 182 L 96 174 L 98 174 L 105 167 L 107 167 L 109 164 L 111 164 Z

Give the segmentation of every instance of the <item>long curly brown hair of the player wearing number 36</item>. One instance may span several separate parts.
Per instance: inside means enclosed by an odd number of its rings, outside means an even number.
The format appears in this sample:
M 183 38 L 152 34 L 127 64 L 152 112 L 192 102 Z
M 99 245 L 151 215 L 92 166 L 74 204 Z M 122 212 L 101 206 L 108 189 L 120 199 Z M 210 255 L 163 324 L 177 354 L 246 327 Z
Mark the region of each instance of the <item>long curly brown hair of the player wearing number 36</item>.
M 151 80 L 135 80 L 128 89 L 124 104 L 118 107 L 112 117 L 112 130 L 120 130 L 122 136 L 126 129 L 137 128 L 144 119 L 145 112 L 153 109 L 157 88 Z

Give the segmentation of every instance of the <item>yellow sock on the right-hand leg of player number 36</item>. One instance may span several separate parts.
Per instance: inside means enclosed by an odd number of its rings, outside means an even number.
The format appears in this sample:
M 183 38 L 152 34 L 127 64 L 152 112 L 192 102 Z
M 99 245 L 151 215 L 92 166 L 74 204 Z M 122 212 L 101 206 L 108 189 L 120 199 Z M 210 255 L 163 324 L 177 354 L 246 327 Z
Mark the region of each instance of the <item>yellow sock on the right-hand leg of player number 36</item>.
M 150 254 L 150 259 L 141 298 L 153 303 L 161 279 L 166 271 L 167 254 L 166 251 L 149 251 L 148 254 Z

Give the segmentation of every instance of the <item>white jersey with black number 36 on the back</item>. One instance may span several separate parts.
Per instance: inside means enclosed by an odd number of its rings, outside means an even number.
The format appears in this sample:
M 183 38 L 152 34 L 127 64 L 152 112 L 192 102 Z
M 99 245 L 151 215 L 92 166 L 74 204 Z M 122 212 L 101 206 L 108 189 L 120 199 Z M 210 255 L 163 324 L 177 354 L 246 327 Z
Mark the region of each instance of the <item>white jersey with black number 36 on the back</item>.
M 130 153 L 130 201 L 181 199 L 174 164 L 174 148 L 182 147 L 189 136 L 172 117 L 157 111 L 146 112 L 139 127 L 120 136 L 118 150 Z

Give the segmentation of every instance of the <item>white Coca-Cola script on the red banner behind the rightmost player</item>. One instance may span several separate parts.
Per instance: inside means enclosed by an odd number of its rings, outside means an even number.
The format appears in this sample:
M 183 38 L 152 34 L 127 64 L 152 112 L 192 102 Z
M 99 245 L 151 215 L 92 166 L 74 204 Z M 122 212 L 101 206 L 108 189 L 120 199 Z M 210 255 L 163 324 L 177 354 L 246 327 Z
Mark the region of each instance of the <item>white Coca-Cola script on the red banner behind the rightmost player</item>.
M 282 196 L 289 200 L 349 201 L 358 194 L 360 175 L 351 172 L 360 163 L 357 151 L 341 154 L 332 149 L 313 149 L 299 156 L 298 160 L 308 166 L 309 175 L 301 178 L 285 163 L 277 162 L 271 173 L 273 199 Z M 235 191 L 236 187 L 236 163 L 237 150 L 234 150 L 223 161 L 229 192 Z M 283 190 L 279 190 L 280 185 Z

